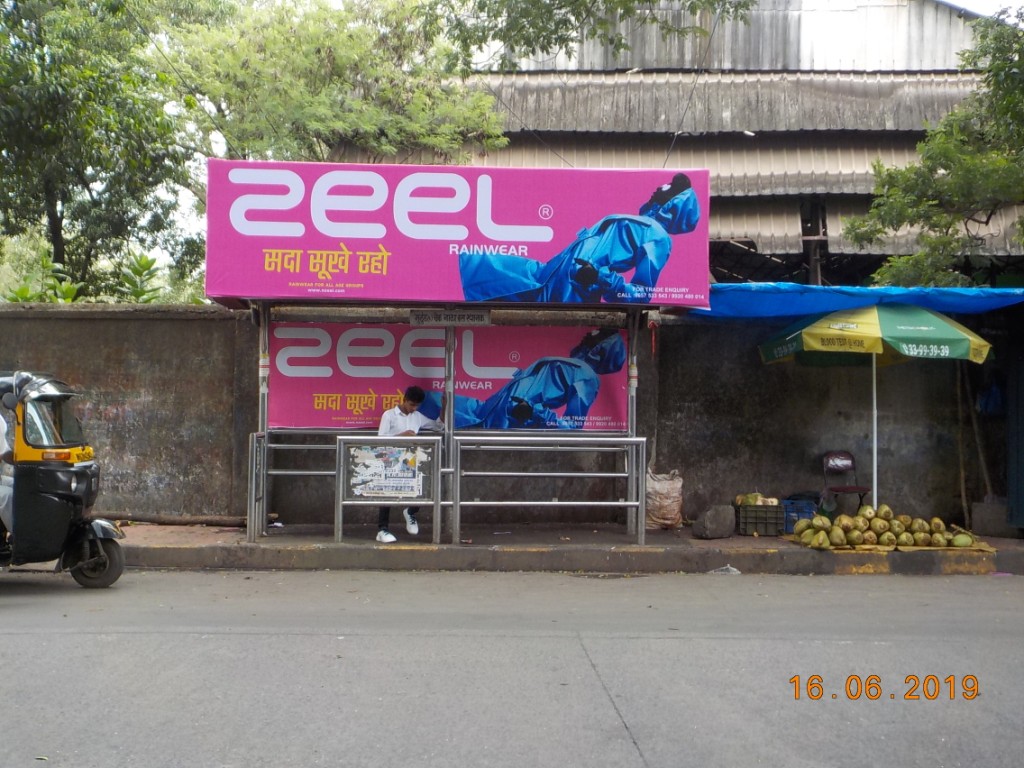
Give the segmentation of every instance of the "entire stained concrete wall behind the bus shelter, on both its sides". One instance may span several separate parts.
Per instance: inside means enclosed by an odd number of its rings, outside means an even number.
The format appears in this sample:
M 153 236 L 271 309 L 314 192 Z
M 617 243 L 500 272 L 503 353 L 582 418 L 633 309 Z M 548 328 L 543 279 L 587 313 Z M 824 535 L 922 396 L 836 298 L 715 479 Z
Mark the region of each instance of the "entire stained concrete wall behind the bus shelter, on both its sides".
M 258 329 L 248 312 L 6 304 L 0 318 L 0 369 L 48 371 L 82 390 L 83 426 L 103 471 L 97 512 L 140 519 L 245 515 L 248 436 L 258 420 Z M 684 317 L 641 332 L 638 433 L 648 437 L 656 471 L 682 473 L 690 517 L 738 493 L 818 490 L 820 455 L 829 449 L 852 451 L 859 479 L 869 484 L 870 369 L 762 366 L 757 344 L 779 326 Z M 945 361 L 879 372 L 880 496 L 897 512 L 958 514 L 955 372 L 956 364 Z M 996 481 L 1005 484 L 997 466 L 1005 423 L 984 428 Z M 978 501 L 984 488 L 969 423 L 965 444 L 964 483 Z M 288 459 L 323 463 L 323 456 Z M 522 483 L 507 492 L 549 494 Z M 585 494 L 621 496 L 600 485 Z M 285 522 L 329 522 L 330 479 L 278 478 L 270 508 Z M 372 514 L 357 510 L 349 519 Z

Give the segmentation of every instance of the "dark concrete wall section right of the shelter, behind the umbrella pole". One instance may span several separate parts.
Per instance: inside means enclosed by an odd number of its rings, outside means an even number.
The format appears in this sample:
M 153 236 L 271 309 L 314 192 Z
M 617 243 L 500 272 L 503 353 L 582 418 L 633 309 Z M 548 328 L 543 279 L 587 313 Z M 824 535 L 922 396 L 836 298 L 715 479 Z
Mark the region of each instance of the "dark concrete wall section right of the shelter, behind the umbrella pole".
M 871 484 L 870 367 L 764 366 L 757 345 L 778 328 L 690 321 L 659 332 L 656 461 L 682 472 L 691 516 L 738 493 L 820 490 L 826 451 L 852 452 L 857 479 Z M 956 375 L 957 364 L 945 360 L 879 369 L 877 503 L 910 515 L 961 513 Z M 993 432 L 986 442 L 1005 442 L 1001 424 L 985 426 Z M 964 482 L 978 500 L 984 489 L 966 416 L 964 440 Z M 856 497 L 841 503 L 855 509 Z

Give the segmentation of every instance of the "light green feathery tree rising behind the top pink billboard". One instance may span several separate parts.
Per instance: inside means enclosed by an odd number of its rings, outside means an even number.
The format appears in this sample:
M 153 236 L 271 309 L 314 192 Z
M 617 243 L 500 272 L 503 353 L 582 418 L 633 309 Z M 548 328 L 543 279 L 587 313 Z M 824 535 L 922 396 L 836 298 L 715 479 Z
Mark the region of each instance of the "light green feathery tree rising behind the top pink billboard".
M 204 156 L 451 163 L 505 144 L 490 96 L 401 0 L 243 0 L 171 32 L 180 108 Z M 220 145 L 222 144 L 222 145 Z M 202 197 L 198 195 L 198 197 Z

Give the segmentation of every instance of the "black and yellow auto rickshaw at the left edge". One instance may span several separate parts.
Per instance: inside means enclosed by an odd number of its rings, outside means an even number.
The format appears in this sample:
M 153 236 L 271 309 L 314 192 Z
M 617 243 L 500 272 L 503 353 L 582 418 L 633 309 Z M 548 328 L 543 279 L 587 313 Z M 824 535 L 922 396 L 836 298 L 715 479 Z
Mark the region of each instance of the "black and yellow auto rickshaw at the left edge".
M 91 517 L 99 465 L 71 403 L 77 393 L 48 374 L 0 372 L 10 447 L 0 487 L 0 566 L 56 560 L 83 587 L 110 587 L 124 570 L 110 520 Z

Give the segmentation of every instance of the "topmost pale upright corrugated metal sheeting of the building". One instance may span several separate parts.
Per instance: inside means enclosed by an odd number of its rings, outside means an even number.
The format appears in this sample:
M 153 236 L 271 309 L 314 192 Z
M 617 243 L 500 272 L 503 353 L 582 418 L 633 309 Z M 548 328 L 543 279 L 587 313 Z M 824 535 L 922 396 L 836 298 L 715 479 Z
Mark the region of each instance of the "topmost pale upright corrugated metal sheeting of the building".
M 663 18 L 712 34 L 663 38 L 651 26 L 627 23 L 620 29 L 630 50 L 618 56 L 590 40 L 571 56 L 521 59 L 519 69 L 948 71 L 959 66 L 957 51 L 971 46 L 968 23 L 975 17 L 935 0 L 762 0 L 748 23 L 716 25 L 710 11 L 694 16 L 678 3 L 653 5 Z

